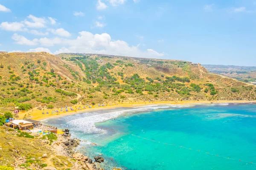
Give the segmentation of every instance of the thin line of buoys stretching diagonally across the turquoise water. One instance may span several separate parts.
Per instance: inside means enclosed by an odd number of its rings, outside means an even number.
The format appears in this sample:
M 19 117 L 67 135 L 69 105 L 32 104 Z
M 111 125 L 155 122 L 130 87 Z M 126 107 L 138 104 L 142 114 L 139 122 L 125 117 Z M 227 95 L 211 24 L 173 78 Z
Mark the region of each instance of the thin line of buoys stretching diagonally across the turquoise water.
M 97 126 L 95 126 L 95 127 L 97 127 Z M 235 161 L 241 161 L 241 162 L 245 162 L 245 163 L 247 163 L 247 164 L 256 164 L 256 163 L 253 163 L 253 162 L 250 162 L 250 161 L 243 161 L 243 160 L 241 160 L 241 159 L 233 159 L 233 158 L 230 158 L 230 157 L 220 156 L 220 155 L 218 155 L 218 154 L 212 154 L 212 153 L 204 152 L 204 151 L 201 151 L 201 150 L 195 150 L 195 149 L 192 149 L 192 148 L 189 148 L 189 147 L 180 146 L 180 145 L 177 145 L 177 144 L 163 143 L 163 142 L 155 141 L 155 140 L 152 140 L 152 139 L 143 138 L 143 137 L 141 137 L 141 136 L 137 136 L 137 135 L 134 135 L 134 134 L 132 134 L 132 133 L 118 132 L 117 130 L 108 129 L 108 128 L 103 128 L 103 127 L 97 127 L 97 128 L 100 128 L 100 129 L 103 129 L 103 130 L 110 130 L 110 131 L 115 132 L 115 133 L 121 133 L 121 134 L 125 134 L 125 135 L 135 136 L 135 137 L 138 137 L 138 138 L 141 138 L 141 139 L 144 139 L 144 140 L 148 140 L 148 141 L 151 141 L 151 142 L 156 142 L 156 143 L 159 143 L 159 144 L 172 145 L 172 146 L 180 147 L 180 148 L 187 149 L 187 150 L 194 150 L 194 151 L 196 151 L 196 152 L 206 153 L 207 155 L 218 156 L 218 157 L 221 157 L 221 158 L 224 158 L 224 159 L 230 159 L 230 160 L 235 160 Z

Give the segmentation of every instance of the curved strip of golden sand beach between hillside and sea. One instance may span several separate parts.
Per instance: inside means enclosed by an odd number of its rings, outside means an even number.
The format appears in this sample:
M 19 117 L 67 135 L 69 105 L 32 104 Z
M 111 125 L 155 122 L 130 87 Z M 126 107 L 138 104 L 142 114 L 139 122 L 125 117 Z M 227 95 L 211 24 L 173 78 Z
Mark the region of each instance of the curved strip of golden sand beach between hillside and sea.
M 29 110 L 24 113 L 19 113 L 19 119 L 23 119 L 23 117 L 28 114 L 31 116 L 29 119 L 35 119 L 38 121 L 44 121 L 47 119 L 52 119 L 52 118 L 57 118 L 57 117 L 62 117 L 62 116 L 69 116 L 73 114 L 79 114 L 79 113 L 87 113 L 87 112 L 92 112 L 92 111 L 99 111 L 99 110 L 110 110 L 114 108 L 128 108 L 128 107 L 140 107 L 140 106 L 147 106 L 147 105 L 190 105 L 190 104 L 221 104 L 221 103 L 256 103 L 256 101 L 244 101 L 244 100 L 221 100 L 221 101 L 181 101 L 181 102 L 174 102 L 174 101 L 167 101 L 167 102 L 140 102 L 140 103 L 127 103 L 127 104 L 120 104 L 120 105 L 108 105 L 108 106 L 103 106 L 103 107 L 97 107 L 93 106 L 92 108 L 86 108 L 86 109 L 81 109 L 81 110 L 76 110 L 76 111 L 68 111 L 68 112 L 61 112 L 61 113 L 54 113 L 50 114 L 51 111 L 56 110 L 56 109 L 45 109 L 44 112 L 48 111 L 49 114 L 42 114 L 41 110 Z M 79 107 L 82 105 L 74 105 L 74 107 Z

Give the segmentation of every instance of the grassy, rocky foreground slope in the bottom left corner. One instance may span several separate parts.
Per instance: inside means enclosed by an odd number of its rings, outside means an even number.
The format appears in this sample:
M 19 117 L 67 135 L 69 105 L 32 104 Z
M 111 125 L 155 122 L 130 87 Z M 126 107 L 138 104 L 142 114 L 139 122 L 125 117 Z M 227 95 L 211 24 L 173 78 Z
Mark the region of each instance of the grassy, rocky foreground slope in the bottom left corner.
M 96 161 L 76 153 L 79 144 L 79 139 L 62 134 L 34 137 L 0 126 L 0 170 L 103 170 Z

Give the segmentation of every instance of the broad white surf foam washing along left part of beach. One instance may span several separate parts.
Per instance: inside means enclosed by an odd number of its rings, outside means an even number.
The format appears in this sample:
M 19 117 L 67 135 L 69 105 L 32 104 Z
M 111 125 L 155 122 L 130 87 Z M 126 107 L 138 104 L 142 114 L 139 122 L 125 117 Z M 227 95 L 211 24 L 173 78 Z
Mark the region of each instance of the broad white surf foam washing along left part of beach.
M 97 122 L 105 122 L 109 119 L 114 119 L 118 116 L 124 115 L 124 114 L 132 114 L 134 112 L 143 112 L 143 111 L 150 111 L 150 110 L 156 110 L 156 109 L 164 109 L 164 108 L 170 108 L 170 106 L 156 106 L 156 107 L 150 107 L 147 108 L 137 108 L 137 109 L 129 109 L 129 110 L 123 110 L 123 111 L 114 111 L 109 113 L 84 113 L 83 116 L 77 116 L 73 120 L 67 120 L 67 125 L 72 127 L 73 130 L 82 131 L 83 133 L 107 133 L 106 130 L 102 130 L 100 128 L 95 127 L 95 123 Z

